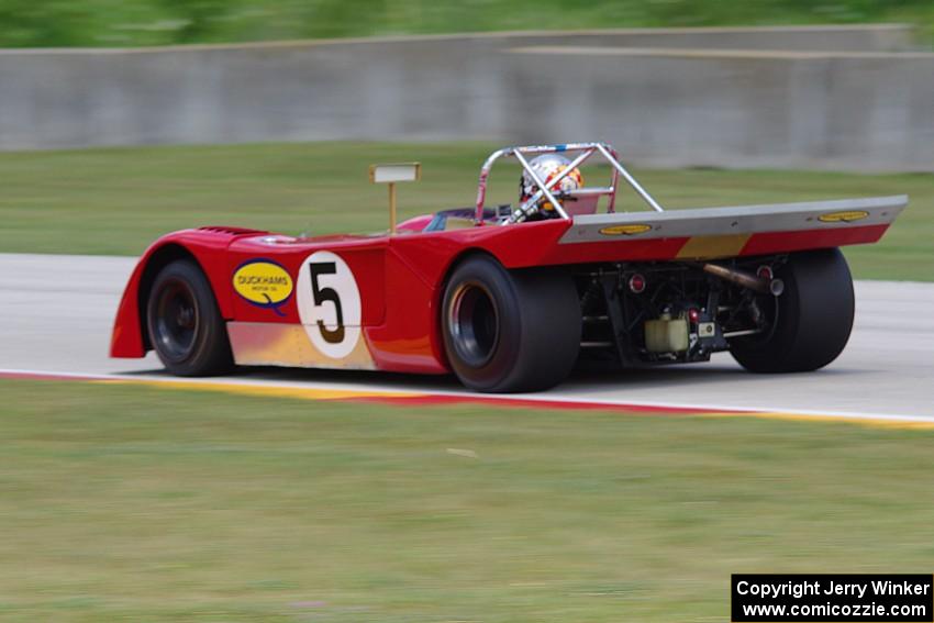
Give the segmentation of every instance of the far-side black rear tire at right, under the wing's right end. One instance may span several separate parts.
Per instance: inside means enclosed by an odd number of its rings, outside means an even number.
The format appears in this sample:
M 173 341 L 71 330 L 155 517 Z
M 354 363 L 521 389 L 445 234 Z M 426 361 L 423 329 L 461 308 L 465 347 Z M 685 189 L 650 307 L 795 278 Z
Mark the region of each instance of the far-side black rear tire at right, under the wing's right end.
M 837 358 L 849 340 L 853 278 L 837 248 L 794 253 L 776 271 L 785 291 L 771 305 L 772 330 L 730 341 L 733 357 L 753 372 L 803 372 Z

